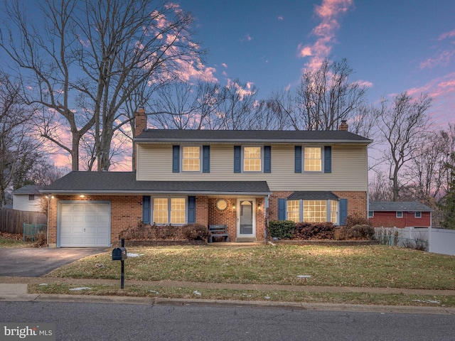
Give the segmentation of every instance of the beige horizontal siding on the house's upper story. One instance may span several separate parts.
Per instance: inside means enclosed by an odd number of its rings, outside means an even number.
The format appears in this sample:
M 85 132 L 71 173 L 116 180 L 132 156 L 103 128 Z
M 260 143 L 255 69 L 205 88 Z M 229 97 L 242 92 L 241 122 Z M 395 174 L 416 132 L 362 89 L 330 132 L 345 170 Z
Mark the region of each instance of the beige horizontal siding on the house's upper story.
M 332 147 L 332 173 L 294 173 L 294 145 L 272 146 L 272 173 L 234 173 L 232 145 L 210 146 L 210 173 L 172 173 L 172 146 L 139 146 L 138 180 L 267 181 L 270 190 L 365 191 L 366 146 Z

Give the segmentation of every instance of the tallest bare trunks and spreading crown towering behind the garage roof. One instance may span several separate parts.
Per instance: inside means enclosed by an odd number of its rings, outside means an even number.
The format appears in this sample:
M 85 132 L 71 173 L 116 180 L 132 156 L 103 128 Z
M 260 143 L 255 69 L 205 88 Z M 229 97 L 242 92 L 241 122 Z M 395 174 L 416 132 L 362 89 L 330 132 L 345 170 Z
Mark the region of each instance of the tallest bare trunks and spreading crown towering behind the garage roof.
M 192 17 L 154 0 L 45 0 L 40 9 L 34 24 L 19 1 L 8 6 L 0 46 L 23 72 L 28 102 L 51 109 L 43 111 L 42 136 L 71 154 L 76 171 L 80 140 L 94 126 L 97 169 L 108 170 L 114 132 L 130 121 L 124 106 L 132 94 L 200 65 Z

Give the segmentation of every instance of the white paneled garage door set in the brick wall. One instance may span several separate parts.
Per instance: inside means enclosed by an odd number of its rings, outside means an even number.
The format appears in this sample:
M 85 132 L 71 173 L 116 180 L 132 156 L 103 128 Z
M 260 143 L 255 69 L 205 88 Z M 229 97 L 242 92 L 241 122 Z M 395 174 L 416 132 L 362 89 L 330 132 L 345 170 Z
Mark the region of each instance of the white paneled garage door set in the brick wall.
M 60 202 L 60 247 L 109 247 L 109 202 Z

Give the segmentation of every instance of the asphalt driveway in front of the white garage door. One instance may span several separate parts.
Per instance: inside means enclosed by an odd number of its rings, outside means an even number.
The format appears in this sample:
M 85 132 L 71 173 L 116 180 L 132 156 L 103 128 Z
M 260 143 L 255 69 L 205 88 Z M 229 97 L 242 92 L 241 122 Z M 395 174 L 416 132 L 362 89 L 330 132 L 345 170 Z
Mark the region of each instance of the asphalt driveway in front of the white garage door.
M 85 256 L 106 251 L 93 248 L 0 248 L 0 276 L 39 277 Z

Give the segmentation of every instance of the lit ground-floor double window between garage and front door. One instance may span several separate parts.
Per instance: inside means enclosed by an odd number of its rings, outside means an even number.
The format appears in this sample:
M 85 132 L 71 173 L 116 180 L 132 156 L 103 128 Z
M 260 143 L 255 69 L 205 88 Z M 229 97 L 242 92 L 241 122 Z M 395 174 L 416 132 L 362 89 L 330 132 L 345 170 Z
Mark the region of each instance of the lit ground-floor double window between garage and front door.
M 152 213 L 154 224 L 185 224 L 186 198 L 154 197 Z

